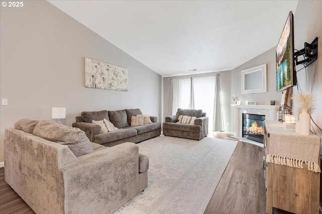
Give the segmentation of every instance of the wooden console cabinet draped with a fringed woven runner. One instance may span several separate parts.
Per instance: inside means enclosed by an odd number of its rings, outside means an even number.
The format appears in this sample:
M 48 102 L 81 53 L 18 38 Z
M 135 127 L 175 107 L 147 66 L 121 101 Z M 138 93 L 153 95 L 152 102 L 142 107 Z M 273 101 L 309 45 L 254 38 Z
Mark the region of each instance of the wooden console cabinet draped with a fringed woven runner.
M 272 138 L 274 135 L 274 138 Z M 294 137 L 296 135 L 296 137 Z M 298 135 L 298 136 L 297 136 Z M 278 136 L 279 138 L 277 138 Z M 303 136 L 294 131 L 285 130 L 282 123 L 277 121 L 265 121 L 264 134 L 264 178 L 266 187 L 266 213 L 272 213 L 273 207 L 283 209 L 294 213 L 319 213 L 319 190 L 320 173 L 307 169 L 305 163 L 303 169 L 267 162 L 267 156 L 271 154 L 270 149 L 274 147 L 285 146 L 280 139 L 299 139 L 305 144 L 294 144 L 290 148 L 294 152 L 307 152 L 307 144 L 310 148 L 314 146 L 316 156 L 316 146 L 320 148 L 320 138 L 315 135 Z M 279 140 L 277 140 L 279 139 Z M 313 139 L 313 141 L 312 141 Z M 272 144 L 272 140 L 278 141 Z M 307 141 L 306 141 L 307 140 Z M 295 142 L 296 143 L 296 142 Z M 314 145 L 312 145 L 314 144 Z M 299 146 L 303 145 L 303 146 Z M 271 146 L 271 147 L 270 147 Z M 274 148 L 276 150 L 276 148 Z M 298 151 L 296 151 L 298 150 Z M 291 152 L 290 152 L 291 153 Z M 310 154 L 309 152 L 307 154 Z M 307 155 L 309 156 L 309 155 Z M 320 166 L 320 154 L 318 150 L 318 166 Z M 294 158 L 294 157 L 288 157 Z M 314 157 L 316 159 L 316 157 Z M 295 158 L 294 158 L 295 159 Z

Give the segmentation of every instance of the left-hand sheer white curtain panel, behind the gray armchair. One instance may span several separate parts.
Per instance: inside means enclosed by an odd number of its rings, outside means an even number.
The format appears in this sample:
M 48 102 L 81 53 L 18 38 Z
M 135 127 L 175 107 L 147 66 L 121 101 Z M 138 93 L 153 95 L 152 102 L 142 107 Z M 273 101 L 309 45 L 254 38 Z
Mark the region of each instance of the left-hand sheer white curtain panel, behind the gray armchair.
M 191 79 L 172 79 L 172 115 L 180 109 L 189 109 Z

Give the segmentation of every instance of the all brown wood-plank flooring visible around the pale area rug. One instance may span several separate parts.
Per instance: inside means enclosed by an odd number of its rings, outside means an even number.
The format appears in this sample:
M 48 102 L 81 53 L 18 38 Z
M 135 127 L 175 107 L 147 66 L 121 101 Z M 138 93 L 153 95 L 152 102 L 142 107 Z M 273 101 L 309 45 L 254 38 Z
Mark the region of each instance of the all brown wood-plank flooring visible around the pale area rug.
M 221 133 L 208 137 L 234 140 Z M 263 148 L 238 141 L 205 213 L 265 213 L 265 210 Z M 0 168 L 0 213 L 35 213 L 7 184 L 4 168 Z

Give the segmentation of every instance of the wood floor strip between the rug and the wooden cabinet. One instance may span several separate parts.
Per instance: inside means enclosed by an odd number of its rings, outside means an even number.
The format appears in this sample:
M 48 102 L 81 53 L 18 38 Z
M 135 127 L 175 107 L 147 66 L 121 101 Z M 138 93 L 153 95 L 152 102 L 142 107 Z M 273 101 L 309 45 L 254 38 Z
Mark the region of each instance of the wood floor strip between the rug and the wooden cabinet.
M 219 133 L 213 137 L 234 140 Z M 265 211 L 263 148 L 238 141 L 205 213 L 265 213 Z

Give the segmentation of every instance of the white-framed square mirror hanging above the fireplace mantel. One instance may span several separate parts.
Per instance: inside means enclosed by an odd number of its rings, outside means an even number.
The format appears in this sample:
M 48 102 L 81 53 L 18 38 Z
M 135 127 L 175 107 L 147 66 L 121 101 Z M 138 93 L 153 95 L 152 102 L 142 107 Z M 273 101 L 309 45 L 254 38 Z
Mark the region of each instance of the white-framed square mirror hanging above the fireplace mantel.
M 241 93 L 267 92 L 266 64 L 241 71 Z

